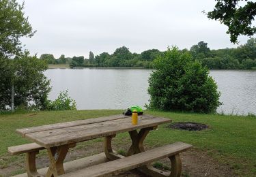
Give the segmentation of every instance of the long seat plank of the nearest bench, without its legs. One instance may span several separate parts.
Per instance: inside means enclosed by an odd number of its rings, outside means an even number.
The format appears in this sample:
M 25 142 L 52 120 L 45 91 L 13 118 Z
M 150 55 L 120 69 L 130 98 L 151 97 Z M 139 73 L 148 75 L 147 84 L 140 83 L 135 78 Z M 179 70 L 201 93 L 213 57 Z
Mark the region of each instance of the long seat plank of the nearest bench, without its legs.
M 153 161 L 157 161 L 159 159 L 176 155 L 191 147 L 192 146 L 190 144 L 185 144 L 183 142 L 175 142 L 173 144 L 168 144 L 166 146 L 162 146 L 159 148 L 147 150 L 136 155 L 124 157 L 122 159 L 117 159 L 115 161 L 109 161 L 99 165 L 94 165 L 91 167 L 87 167 L 83 170 L 71 172 L 69 174 L 63 174 L 61 175 L 61 177 L 95 177 L 106 176 L 108 174 L 113 174 L 114 172 L 121 173 L 127 170 L 132 170 L 134 168 L 141 167 L 142 165 L 146 165 L 148 163 L 152 163 Z

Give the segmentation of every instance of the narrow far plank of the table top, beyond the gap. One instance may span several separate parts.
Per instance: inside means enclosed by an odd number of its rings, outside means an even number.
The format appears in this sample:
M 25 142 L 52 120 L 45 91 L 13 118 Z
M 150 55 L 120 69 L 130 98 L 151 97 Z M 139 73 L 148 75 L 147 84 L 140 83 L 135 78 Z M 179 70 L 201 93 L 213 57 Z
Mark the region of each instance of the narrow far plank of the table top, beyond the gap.
M 27 133 L 34 133 L 38 131 L 46 131 L 46 130 L 52 130 L 52 129 L 61 129 L 64 127 L 73 127 L 77 125 L 87 125 L 87 124 L 92 124 L 92 123 L 101 123 L 104 121 L 109 121 L 109 120 L 115 120 L 119 118 L 126 118 L 128 116 L 124 116 L 122 114 L 119 115 L 114 115 L 114 116 L 104 116 L 100 118 L 88 118 L 85 120 L 76 120 L 76 121 L 70 121 L 66 123 L 56 123 L 56 124 L 51 124 L 51 125 L 42 125 L 38 127 L 29 127 L 29 128 L 24 128 L 24 129 L 17 129 L 16 131 L 20 133 L 20 135 L 23 135 L 23 137 Z

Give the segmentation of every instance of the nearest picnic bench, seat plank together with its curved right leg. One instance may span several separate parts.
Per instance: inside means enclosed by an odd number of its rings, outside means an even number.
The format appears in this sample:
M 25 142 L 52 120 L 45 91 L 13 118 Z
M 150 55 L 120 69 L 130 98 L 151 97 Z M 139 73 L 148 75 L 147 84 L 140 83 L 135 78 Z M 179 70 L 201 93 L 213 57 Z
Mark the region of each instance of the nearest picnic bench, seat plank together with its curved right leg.
M 141 170 L 143 170 L 143 165 L 148 165 L 153 161 L 164 159 L 166 157 L 169 157 L 169 159 L 171 160 L 171 173 L 165 175 L 165 172 L 162 172 L 160 170 L 156 172 L 156 169 L 154 172 L 154 169 L 151 168 L 152 171 L 150 172 L 150 174 L 152 174 L 153 176 L 180 176 L 182 164 L 180 161 L 179 153 L 191 147 L 192 146 L 190 144 L 175 142 L 173 144 L 168 144 L 166 146 L 154 148 L 152 150 L 147 150 L 136 155 L 124 157 L 122 159 L 117 159 L 106 163 L 101 163 L 99 165 L 87 167 L 76 172 L 63 174 L 61 175 L 61 177 L 111 176 L 111 174 L 119 174 L 121 172 L 132 170 L 138 167 L 142 167 Z M 145 169 L 150 170 L 150 168 L 148 167 Z

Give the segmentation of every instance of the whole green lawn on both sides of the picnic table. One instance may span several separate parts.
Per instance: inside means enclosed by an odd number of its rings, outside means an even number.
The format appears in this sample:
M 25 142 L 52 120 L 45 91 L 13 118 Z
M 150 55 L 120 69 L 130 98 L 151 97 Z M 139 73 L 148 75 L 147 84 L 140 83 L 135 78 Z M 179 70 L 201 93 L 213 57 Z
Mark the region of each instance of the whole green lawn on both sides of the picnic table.
M 0 114 L 0 159 L 17 161 L 18 157 L 8 156 L 8 146 L 25 144 L 16 129 L 85 118 L 96 118 L 120 114 L 122 110 L 81 110 L 59 112 L 29 112 L 25 114 Z M 239 176 L 256 175 L 256 118 L 243 116 L 223 116 L 212 114 L 189 114 L 174 112 L 152 112 L 146 114 L 171 118 L 173 122 L 193 121 L 205 123 L 210 129 L 204 131 L 180 131 L 161 125 L 146 138 L 147 146 L 162 146 L 172 142 L 193 144 L 197 150 L 208 152 L 220 164 L 229 165 Z M 117 135 L 115 140 L 122 143 L 128 133 Z M 0 161 L 0 168 L 8 164 Z

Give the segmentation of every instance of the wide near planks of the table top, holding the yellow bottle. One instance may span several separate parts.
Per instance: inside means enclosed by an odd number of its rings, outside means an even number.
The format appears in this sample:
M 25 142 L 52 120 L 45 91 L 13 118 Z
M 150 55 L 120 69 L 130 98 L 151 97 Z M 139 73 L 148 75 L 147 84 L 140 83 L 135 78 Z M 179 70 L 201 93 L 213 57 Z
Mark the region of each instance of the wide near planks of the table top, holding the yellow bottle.
M 51 131 L 27 133 L 25 137 L 48 148 L 61 146 L 63 144 L 83 142 L 85 140 L 92 140 L 94 138 L 105 137 L 107 135 L 114 135 L 116 133 L 132 131 L 135 129 L 155 127 L 170 122 L 171 120 L 168 118 L 140 116 L 138 125 L 132 125 L 131 118 L 128 117 L 90 125 L 79 125 L 75 127 L 54 129 Z

